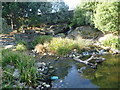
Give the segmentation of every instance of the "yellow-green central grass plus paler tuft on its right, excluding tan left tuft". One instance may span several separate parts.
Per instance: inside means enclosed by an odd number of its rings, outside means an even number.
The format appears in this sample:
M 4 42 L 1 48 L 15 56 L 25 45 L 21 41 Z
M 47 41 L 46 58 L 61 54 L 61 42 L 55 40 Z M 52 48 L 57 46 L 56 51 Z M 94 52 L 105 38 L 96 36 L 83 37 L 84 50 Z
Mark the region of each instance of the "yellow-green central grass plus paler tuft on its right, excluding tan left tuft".
M 73 49 L 81 51 L 83 48 L 91 45 L 90 40 L 84 40 L 82 38 L 76 38 L 76 40 L 68 38 L 53 38 L 49 44 L 51 52 L 57 53 L 58 55 L 66 55 Z

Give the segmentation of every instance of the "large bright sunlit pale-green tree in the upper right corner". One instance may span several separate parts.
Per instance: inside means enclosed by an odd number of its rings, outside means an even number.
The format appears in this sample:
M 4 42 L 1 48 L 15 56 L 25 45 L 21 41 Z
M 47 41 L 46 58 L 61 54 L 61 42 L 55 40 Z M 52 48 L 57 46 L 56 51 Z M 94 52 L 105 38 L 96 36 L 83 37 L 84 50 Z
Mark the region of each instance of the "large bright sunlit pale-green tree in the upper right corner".
M 95 27 L 103 33 L 117 33 L 119 30 L 119 2 L 102 2 L 94 14 Z

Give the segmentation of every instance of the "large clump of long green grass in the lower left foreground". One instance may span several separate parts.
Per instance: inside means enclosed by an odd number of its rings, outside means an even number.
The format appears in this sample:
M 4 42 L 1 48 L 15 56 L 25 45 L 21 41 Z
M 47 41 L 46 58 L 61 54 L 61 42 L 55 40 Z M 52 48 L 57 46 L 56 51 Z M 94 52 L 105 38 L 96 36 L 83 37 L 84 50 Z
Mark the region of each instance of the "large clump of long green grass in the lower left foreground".
M 3 68 L 3 87 L 9 87 L 15 84 L 13 73 L 15 69 L 19 70 L 19 82 L 32 86 L 36 83 L 37 69 L 34 65 L 35 60 L 32 56 L 23 52 L 2 50 L 2 68 Z M 8 68 L 8 65 L 14 68 Z

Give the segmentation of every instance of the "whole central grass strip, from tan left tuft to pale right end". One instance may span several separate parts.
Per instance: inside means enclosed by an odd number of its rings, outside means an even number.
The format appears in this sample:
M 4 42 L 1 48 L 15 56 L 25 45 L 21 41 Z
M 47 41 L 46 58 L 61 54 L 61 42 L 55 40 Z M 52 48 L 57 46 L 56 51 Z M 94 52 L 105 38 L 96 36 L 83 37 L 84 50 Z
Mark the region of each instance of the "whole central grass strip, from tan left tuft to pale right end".
M 76 40 L 68 39 L 68 38 L 52 38 L 52 40 L 48 43 L 38 44 L 35 47 L 35 51 L 39 53 L 50 52 L 57 55 L 67 55 L 73 49 L 77 49 L 81 51 L 84 48 L 90 46 L 92 42 L 90 40 L 85 40 L 80 37 L 77 37 Z

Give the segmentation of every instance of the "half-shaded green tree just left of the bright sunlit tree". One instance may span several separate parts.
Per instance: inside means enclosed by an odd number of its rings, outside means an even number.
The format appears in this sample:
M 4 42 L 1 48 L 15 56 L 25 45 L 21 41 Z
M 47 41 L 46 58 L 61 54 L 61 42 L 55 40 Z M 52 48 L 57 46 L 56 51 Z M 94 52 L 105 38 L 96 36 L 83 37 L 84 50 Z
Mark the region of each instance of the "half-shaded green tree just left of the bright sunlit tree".
M 98 2 L 82 2 L 74 12 L 73 23 L 77 25 L 93 25 L 93 14 Z

